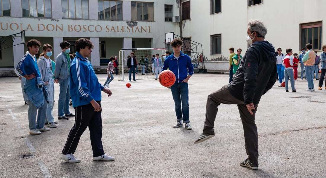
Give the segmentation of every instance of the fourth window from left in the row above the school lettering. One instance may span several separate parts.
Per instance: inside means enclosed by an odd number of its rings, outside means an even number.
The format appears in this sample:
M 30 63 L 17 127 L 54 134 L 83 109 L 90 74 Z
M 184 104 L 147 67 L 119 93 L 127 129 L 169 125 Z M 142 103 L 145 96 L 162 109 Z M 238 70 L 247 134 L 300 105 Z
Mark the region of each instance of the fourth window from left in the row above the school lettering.
M 122 1 L 97 0 L 99 20 L 123 20 Z

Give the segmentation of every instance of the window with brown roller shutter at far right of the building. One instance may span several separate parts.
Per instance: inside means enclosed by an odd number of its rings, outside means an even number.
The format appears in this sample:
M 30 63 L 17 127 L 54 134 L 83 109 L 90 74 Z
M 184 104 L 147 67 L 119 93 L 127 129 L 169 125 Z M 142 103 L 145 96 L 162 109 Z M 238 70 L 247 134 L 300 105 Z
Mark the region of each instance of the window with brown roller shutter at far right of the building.
M 301 48 L 311 43 L 312 49 L 321 50 L 321 33 L 321 22 L 301 24 Z

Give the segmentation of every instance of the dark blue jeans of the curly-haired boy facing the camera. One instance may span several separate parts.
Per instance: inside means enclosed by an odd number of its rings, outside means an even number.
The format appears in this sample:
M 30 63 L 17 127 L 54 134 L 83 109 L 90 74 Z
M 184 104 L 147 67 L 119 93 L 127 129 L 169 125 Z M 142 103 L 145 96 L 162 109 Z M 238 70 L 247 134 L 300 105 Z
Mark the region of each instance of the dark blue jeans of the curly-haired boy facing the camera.
M 185 82 L 176 82 L 171 86 L 171 92 L 174 100 L 177 121 L 183 120 L 184 123 L 189 123 L 188 84 Z

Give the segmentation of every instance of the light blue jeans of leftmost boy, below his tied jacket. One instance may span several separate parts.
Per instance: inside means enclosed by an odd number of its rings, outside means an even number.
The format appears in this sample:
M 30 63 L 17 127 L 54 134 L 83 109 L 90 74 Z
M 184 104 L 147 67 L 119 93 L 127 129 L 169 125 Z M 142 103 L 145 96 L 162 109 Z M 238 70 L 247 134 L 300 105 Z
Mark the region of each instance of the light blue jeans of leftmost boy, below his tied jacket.
M 29 129 L 41 129 L 44 127 L 44 122 L 46 118 L 46 111 L 48 108 L 48 103 L 45 100 L 45 96 L 43 94 L 43 102 L 44 104 L 38 109 L 37 114 L 37 121 L 36 120 L 36 113 L 37 107 L 33 104 L 32 101 L 28 101 L 28 125 Z

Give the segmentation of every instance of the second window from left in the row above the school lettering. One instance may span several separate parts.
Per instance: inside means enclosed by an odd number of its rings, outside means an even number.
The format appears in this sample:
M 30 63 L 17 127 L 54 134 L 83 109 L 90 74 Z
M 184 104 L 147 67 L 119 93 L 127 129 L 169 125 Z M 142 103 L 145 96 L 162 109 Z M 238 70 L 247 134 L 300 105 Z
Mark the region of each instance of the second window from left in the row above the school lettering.
M 52 18 L 51 0 L 22 0 L 22 16 Z

